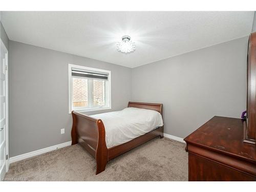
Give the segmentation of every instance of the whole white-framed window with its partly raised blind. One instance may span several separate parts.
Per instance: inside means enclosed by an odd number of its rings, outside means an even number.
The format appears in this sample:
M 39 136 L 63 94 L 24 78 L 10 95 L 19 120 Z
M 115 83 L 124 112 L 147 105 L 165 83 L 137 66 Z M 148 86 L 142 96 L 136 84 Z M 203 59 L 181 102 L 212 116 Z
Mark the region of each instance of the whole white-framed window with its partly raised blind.
M 111 109 L 111 72 L 69 64 L 69 113 Z

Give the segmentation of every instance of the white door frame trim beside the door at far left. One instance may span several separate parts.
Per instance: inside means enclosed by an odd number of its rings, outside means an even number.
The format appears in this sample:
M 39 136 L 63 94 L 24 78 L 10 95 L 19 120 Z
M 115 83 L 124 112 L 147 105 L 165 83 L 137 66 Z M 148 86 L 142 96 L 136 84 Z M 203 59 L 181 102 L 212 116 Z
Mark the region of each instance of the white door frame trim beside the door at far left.
M 8 170 L 9 170 L 9 93 L 8 93 L 8 90 L 9 90 L 9 87 L 8 87 L 8 69 L 9 69 L 9 62 L 8 62 L 8 50 L 7 50 L 7 48 L 6 48 L 6 46 L 5 46 L 5 44 L 4 44 L 4 42 L 3 42 L 3 40 L 0 38 L 0 40 L 1 40 L 1 47 L 3 47 L 4 49 L 5 49 L 5 51 L 6 51 L 6 76 L 5 76 L 5 78 L 6 78 L 6 84 L 5 84 L 5 94 L 6 94 L 6 131 L 5 131 L 5 133 L 6 133 L 6 137 L 5 137 L 5 139 L 6 139 L 6 155 L 8 155 L 8 159 L 6 159 L 6 173 L 8 172 Z

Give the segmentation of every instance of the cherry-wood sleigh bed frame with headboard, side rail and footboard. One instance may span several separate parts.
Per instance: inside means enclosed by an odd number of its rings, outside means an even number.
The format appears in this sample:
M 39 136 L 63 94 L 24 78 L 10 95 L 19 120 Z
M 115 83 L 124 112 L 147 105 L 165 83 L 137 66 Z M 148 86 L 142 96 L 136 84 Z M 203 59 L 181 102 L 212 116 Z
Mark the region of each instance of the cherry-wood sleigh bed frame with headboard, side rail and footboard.
M 129 102 L 128 107 L 155 110 L 163 117 L 163 104 Z M 111 159 L 155 137 L 160 136 L 160 138 L 163 138 L 163 126 L 161 126 L 129 142 L 107 148 L 105 142 L 105 127 L 101 119 L 95 119 L 75 111 L 72 111 L 72 117 L 72 145 L 79 143 L 96 159 L 96 175 L 105 170 L 106 163 Z

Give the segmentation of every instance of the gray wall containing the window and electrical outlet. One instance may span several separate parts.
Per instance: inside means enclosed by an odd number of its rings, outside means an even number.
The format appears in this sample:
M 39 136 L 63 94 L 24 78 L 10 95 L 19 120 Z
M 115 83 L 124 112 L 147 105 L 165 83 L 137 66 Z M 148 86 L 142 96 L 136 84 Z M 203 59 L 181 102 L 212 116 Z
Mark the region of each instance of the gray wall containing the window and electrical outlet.
M 130 68 L 10 41 L 10 157 L 71 141 L 68 63 L 111 70 L 111 111 L 127 106 Z M 63 135 L 61 128 L 65 128 Z

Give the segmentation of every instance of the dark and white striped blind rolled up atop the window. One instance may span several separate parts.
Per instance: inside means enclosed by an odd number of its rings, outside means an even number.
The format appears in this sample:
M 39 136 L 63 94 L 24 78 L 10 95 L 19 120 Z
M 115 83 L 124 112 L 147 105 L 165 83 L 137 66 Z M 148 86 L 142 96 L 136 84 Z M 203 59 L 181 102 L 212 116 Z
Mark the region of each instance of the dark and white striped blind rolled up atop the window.
M 72 68 L 72 76 L 108 80 L 109 74 L 104 72 Z

